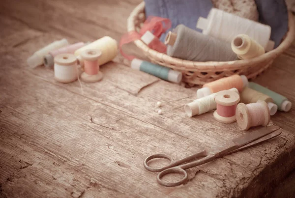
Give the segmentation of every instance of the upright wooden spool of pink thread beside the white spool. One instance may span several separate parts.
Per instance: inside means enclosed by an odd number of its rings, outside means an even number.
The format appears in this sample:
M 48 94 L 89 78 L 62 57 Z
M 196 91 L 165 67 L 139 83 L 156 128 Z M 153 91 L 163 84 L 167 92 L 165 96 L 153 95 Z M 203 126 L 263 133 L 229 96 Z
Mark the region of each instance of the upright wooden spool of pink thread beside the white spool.
M 81 53 L 84 59 L 84 72 L 81 79 L 84 82 L 95 83 L 103 78 L 103 74 L 99 71 L 98 59 L 102 53 L 98 49 L 88 49 Z

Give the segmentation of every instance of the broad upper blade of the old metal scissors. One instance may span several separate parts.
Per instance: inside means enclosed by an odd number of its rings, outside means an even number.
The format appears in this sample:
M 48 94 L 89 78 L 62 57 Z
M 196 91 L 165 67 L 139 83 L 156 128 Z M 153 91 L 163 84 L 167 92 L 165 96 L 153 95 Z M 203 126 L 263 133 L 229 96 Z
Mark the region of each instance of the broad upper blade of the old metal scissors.
M 252 141 L 260 139 L 260 138 L 262 138 L 274 131 L 277 131 L 279 129 L 280 129 L 279 126 L 264 127 L 262 129 L 258 129 L 258 130 L 252 131 L 252 132 L 245 133 L 244 135 L 242 135 L 238 138 L 235 138 L 232 141 L 234 143 L 236 143 L 236 145 L 238 145 L 238 146 L 243 146 L 243 145 L 248 144 Z

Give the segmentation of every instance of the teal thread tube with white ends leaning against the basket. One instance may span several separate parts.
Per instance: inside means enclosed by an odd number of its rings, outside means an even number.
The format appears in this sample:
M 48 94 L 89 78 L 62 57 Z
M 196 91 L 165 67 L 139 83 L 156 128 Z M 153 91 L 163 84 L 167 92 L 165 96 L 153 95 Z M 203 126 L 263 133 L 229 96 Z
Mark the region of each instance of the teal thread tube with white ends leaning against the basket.
M 131 61 L 131 68 L 173 83 L 180 83 L 182 79 L 181 72 L 137 58 Z

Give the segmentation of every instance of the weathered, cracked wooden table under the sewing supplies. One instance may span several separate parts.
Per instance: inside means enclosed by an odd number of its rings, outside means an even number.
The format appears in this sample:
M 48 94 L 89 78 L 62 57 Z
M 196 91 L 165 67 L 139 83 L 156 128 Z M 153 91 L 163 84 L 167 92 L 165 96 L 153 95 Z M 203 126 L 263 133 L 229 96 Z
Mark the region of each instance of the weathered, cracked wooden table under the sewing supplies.
M 53 70 L 29 69 L 36 50 L 67 38 L 117 40 L 140 0 L 2 0 L 0 4 L 0 197 L 294 197 L 294 108 L 272 116 L 286 131 L 189 171 L 166 188 L 143 167 L 154 153 L 175 159 L 244 132 L 212 113 L 189 118 L 184 88 L 114 62 L 103 81 L 60 84 Z M 295 102 L 295 45 L 255 81 Z M 156 102 L 161 101 L 162 115 Z

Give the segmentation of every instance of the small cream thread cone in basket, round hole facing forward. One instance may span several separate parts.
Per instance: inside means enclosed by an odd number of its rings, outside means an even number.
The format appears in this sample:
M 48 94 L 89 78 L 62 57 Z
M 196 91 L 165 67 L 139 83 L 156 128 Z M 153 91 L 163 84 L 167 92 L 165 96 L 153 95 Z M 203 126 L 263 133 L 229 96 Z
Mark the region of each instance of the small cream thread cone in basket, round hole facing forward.
M 232 50 L 240 59 L 251 59 L 266 53 L 259 43 L 246 34 L 239 34 L 233 39 Z

